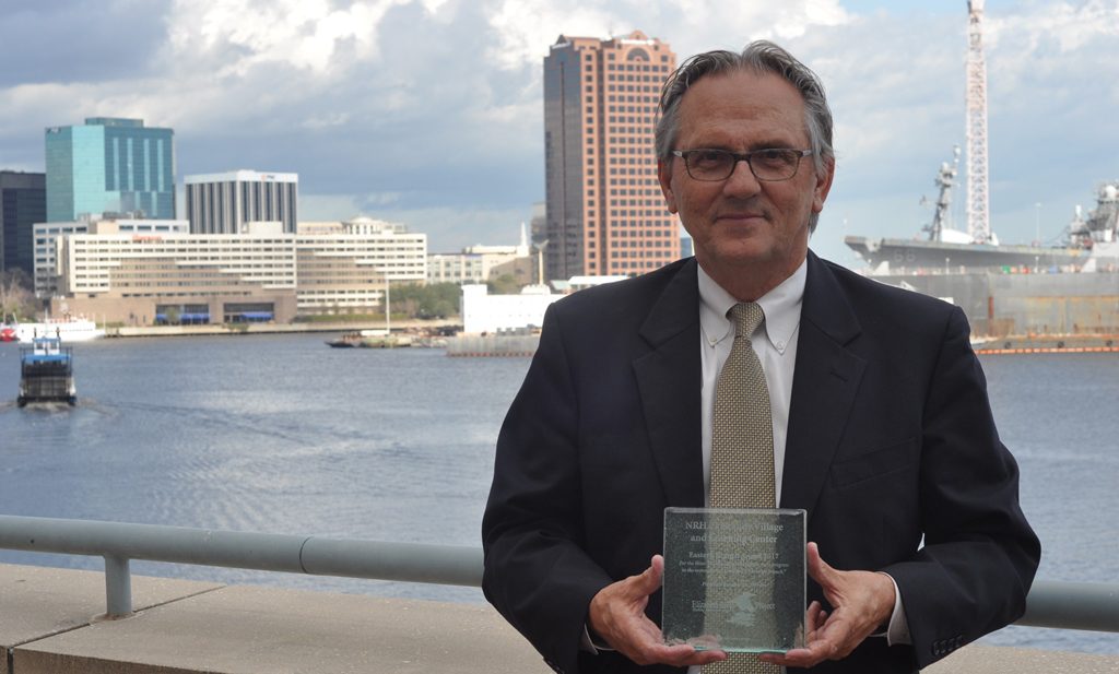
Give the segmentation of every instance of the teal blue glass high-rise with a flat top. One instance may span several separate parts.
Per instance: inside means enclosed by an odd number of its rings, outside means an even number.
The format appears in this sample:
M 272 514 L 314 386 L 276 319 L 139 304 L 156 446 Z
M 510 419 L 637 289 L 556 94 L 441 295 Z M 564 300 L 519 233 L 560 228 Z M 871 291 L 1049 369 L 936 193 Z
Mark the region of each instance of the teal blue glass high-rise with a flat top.
M 143 120 L 87 117 L 46 133 L 47 221 L 129 213 L 175 218 L 175 132 Z

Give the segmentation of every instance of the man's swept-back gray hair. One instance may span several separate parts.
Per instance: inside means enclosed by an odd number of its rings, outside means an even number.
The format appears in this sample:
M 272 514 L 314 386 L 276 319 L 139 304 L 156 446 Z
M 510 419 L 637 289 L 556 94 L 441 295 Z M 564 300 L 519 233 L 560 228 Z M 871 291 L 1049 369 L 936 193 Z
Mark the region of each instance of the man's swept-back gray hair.
M 812 161 L 816 164 L 817 175 L 822 175 L 825 167 L 835 161 L 835 150 L 831 148 L 831 110 L 828 107 L 827 96 L 824 95 L 824 85 L 808 66 L 768 40 L 750 42 L 742 54 L 716 49 L 697 54 L 680 64 L 660 91 L 660 118 L 657 120 L 656 132 L 657 159 L 668 161 L 671 158 L 679 131 L 680 101 L 688 88 L 708 75 L 735 70 L 752 70 L 759 75 L 773 74 L 800 92 L 805 99 L 805 127 L 808 129 Z M 814 218 L 814 229 L 815 225 Z

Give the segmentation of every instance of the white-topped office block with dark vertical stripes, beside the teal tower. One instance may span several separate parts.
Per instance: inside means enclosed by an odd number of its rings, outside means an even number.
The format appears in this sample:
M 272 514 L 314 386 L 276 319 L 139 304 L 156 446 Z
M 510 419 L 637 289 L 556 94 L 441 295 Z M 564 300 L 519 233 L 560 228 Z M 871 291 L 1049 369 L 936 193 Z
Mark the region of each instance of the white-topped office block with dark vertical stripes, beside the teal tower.
M 250 222 L 280 222 L 295 234 L 299 175 L 231 171 L 187 175 L 187 220 L 192 234 L 244 234 Z

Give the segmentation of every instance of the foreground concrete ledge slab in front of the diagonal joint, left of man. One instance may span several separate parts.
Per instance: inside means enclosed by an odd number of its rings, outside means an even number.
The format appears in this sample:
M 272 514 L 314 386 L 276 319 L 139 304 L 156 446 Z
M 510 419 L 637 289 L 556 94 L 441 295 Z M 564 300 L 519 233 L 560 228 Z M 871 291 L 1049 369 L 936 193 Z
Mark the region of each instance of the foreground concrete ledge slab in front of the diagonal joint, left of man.
M 185 672 L 551 670 L 489 606 L 261 587 L 187 597 L 12 652 L 13 674 Z

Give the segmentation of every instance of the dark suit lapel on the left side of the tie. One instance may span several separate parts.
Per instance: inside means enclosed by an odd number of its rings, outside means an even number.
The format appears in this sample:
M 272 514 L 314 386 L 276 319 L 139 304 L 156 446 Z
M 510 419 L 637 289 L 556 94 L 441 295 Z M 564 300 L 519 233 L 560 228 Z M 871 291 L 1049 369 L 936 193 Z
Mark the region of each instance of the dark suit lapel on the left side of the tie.
M 633 360 L 646 428 L 666 502 L 700 507 L 699 289 L 696 263 L 668 283 L 641 325 L 650 351 Z

